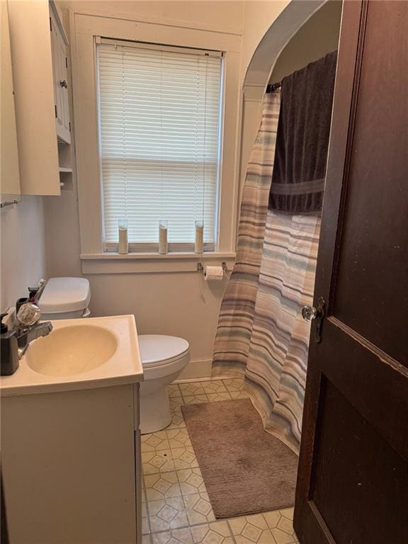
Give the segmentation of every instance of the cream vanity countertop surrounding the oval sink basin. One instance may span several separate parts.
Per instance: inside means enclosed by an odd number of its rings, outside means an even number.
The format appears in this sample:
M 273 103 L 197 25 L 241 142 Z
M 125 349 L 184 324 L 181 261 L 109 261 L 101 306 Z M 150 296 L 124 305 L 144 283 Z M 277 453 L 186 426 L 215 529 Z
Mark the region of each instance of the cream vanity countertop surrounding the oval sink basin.
M 18 370 L 11 376 L 1 376 L 0 392 L 2 396 L 109 387 L 143 380 L 142 361 L 133 315 L 91 317 L 88 319 L 57 319 L 52 321 L 52 325 L 54 328 L 49 336 L 31 342 L 26 354 L 20 360 Z M 34 347 L 33 353 L 34 351 L 40 353 L 43 346 L 46 348 L 47 339 L 58 329 L 63 327 L 86 327 L 89 325 L 108 329 L 115 336 L 117 342 L 115 351 L 104 363 L 91 370 L 66 375 L 43 374 L 30 368 L 28 364 L 30 349 Z M 40 344 L 41 342 L 42 344 Z M 89 345 L 87 348 L 88 351 L 91 349 Z M 64 349 L 63 345 L 61 349 Z M 52 356 L 54 356 L 53 352 Z M 55 357 L 58 356 L 59 351 L 55 349 Z M 50 353 L 48 353 L 48 358 L 50 358 Z

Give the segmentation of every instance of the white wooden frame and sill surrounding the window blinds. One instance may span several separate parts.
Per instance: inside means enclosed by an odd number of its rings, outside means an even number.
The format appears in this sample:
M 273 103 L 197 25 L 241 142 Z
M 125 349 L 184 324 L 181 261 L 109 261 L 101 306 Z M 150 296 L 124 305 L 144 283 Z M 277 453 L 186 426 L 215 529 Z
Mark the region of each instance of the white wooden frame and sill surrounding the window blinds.
M 205 263 L 232 262 L 235 256 L 239 196 L 238 142 L 240 123 L 239 70 L 241 37 L 197 28 L 141 23 L 111 17 L 71 13 L 74 136 L 77 155 L 81 263 L 84 273 L 190 271 Z M 103 221 L 99 170 L 96 37 L 130 42 L 163 43 L 174 47 L 222 51 L 223 111 L 220 120 L 220 181 L 217 183 L 217 243 L 202 256 L 186 251 L 159 255 L 155 251 L 119 255 L 103 251 Z M 182 248 L 180 248 L 182 249 Z

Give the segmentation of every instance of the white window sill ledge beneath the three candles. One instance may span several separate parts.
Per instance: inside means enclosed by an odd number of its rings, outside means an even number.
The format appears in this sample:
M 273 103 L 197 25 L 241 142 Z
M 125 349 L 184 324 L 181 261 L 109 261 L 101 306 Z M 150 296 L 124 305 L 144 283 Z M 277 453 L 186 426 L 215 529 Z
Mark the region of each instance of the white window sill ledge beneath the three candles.
M 196 253 L 128 253 L 115 252 L 81 254 L 82 272 L 84 274 L 112 273 L 166 273 L 196 272 L 197 263 L 203 265 L 221 265 L 227 263 L 231 270 L 235 253 L 227 251 L 206 251 Z

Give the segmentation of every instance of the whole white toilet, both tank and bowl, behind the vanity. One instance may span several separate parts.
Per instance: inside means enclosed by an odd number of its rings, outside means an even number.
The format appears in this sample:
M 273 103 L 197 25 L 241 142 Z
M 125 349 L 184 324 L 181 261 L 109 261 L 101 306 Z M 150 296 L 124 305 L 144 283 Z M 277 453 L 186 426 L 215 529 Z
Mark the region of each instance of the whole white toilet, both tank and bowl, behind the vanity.
M 91 288 L 86 278 L 50 278 L 40 296 L 41 319 L 88 317 Z M 188 341 L 176 336 L 139 336 L 144 381 L 140 384 L 142 434 L 164 429 L 171 421 L 166 385 L 176 380 L 190 361 Z

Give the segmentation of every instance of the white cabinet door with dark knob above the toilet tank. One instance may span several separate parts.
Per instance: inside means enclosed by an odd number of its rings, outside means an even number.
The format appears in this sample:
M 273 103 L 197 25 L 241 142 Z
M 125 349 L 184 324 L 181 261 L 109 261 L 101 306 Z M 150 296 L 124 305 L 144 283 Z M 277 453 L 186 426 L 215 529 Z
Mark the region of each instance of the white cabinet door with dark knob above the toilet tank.
M 51 12 L 51 43 L 57 137 L 58 140 L 62 140 L 69 144 L 71 142 L 71 135 L 69 133 L 67 44 L 64 41 L 64 37 L 62 36 L 53 12 Z

